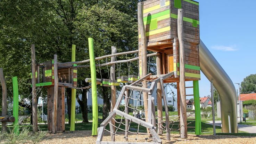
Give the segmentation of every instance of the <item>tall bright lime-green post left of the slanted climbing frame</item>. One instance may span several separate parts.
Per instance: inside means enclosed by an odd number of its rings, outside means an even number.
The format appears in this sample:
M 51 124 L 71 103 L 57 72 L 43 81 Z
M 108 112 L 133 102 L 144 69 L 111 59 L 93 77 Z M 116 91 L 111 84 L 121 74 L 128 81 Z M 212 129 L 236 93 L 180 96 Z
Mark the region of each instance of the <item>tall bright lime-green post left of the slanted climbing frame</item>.
M 96 67 L 94 60 L 93 39 L 89 38 L 89 55 L 91 68 L 91 86 L 92 86 L 92 136 L 98 135 L 98 102 L 97 102 L 97 83 L 96 83 Z

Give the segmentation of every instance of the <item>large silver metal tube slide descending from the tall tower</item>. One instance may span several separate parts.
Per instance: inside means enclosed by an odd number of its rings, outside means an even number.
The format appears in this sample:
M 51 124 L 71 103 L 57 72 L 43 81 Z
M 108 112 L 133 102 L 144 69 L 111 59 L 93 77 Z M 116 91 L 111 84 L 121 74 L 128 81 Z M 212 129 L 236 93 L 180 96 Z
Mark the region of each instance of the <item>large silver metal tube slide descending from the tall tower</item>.
M 199 45 L 200 69 L 218 91 L 221 99 L 222 132 L 238 133 L 237 125 L 237 93 L 233 82 L 226 74 L 220 63 L 213 57 L 203 41 Z

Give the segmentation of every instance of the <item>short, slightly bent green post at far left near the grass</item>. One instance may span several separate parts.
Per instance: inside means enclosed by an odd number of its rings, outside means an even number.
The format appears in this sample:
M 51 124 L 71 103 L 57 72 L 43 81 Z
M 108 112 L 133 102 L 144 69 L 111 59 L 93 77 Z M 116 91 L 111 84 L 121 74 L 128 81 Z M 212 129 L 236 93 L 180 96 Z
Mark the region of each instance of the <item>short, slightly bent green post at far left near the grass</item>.
M 19 135 L 19 91 L 17 77 L 13 77 L 13 117 L 15 118 L 13 122 L 14 133 Z

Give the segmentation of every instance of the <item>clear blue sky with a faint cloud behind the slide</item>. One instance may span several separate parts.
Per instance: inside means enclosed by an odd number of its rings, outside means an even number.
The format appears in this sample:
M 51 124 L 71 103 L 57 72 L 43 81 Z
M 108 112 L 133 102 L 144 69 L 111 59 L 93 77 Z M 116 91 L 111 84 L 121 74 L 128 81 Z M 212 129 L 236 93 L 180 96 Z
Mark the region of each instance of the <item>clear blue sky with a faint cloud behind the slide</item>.
M 197 1 L 200 39 L 233 83 L 241 83 L 246 76 L 256 74 L 256 1 Z M 237 89 L 238 85 L 235 87 Z M 199 90 L 200 97 L 210 95 L 210 83 L 202 72 Z M 192 91 L 187 93 L 192 94 Z

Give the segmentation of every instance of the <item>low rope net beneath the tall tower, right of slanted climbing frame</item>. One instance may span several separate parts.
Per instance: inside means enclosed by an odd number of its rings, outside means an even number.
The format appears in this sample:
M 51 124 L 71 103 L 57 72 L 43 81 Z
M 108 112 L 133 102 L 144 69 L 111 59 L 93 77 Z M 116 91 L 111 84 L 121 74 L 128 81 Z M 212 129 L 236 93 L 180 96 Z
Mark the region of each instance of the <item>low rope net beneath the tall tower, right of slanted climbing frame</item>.
M 187 115 L 187 118 L 189 118 L 190 116 L 192 116 L 195 112 L 193 113 L 190 113 L 189 115 Z M 163 130 L 163 131 L 166 131 L 166 123 L 167 121 L 164 119 L 164 118 L 160 118 L 158 116 L 156 116 L 156 118 L 158 118 L 158 123 L 157 123 L 157 128 Z M 189 123 L 187 123 L 187 125 L 191 124 L 192 122 L 194 122 L 195 120 L 193 121 L 190 121 Z M 170 131 L 179 131 L 180 130 L 180 116 L 177 116 L 173 119 L 170 119 L 169 122 L 168 122 L 170 126 Z

